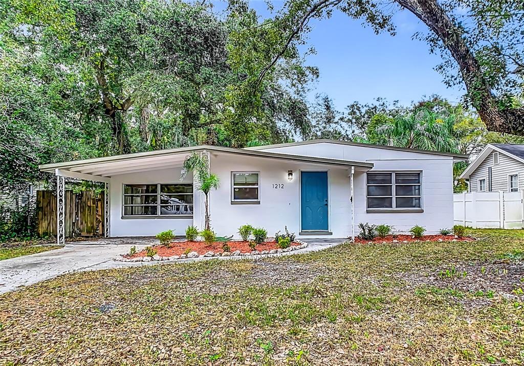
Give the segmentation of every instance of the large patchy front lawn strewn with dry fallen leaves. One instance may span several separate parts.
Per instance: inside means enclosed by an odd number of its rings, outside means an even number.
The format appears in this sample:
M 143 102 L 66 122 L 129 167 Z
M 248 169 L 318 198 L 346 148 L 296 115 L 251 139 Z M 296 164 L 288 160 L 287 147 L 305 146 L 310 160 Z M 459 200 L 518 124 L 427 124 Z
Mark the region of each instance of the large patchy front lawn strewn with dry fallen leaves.
M 0 364 L 524 364 L 524 231 L 72 273 L 0 296 Z

